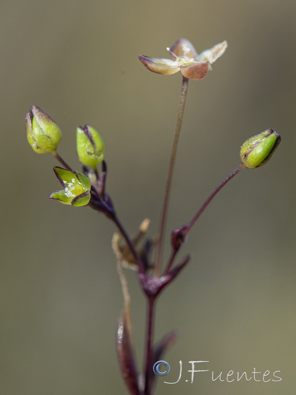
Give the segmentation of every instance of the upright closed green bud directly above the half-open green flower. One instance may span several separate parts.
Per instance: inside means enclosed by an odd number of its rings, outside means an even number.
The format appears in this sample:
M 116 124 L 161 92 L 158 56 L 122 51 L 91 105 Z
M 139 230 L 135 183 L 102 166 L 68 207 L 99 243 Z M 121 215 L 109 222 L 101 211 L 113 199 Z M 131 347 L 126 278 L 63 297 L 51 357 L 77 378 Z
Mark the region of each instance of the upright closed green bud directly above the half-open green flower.
M 104 159 L 104 142 L 99 133 L 89 125 L 77 127 L 76 144 L 80 162 L 96 169 Z

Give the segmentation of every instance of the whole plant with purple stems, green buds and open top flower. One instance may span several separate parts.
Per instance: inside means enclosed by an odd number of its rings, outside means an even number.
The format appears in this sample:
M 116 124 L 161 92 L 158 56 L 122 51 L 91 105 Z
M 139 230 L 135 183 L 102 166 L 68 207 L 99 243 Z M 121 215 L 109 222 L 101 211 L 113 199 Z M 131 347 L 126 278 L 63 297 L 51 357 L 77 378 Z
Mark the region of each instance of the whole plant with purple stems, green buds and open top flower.
M 117 330 L 117 355 L 127 389 L 131 395 L 153 395 L 155 384 L 154 363 L 162 362 L 162 354 L 177 337 L 175 331 L 166 334 L 157 345 L 154 345 L 154 325 L 156 301 L 160 292 L 178 276 L 190 259 L 185 255 L 175 264 L 175 259 L 181 245 L 185 242 L 190 229 L 209 205 L 212 199 L 236 174 L 244 168 L 258 168 L 265 164 L 274 153 L 281 141 L 281 136 L 273 129 L 249 138 L 240 150 L 241 164 L 214 190 L 205 200 L 190 222 L 173 230 L 171 233 L 171 254 L 164 270 L 162 270 L 163 243 L 168 216 L 169 199 L 171 194 L 173 173 L 177 155 L 181 125 L 184 116 L 185 101 L 188 89 L 188 78 L 203 79 L 208 70 L 212 70 L 211 63 L 215 62 L 225 51 L 227 42 L 223 41 L 199 55 L 193 45 L 186 39 L 179 39 L 170 48 L 173 60 L 148 58 L 140 55 L 139 58 L 148 70 L 163 75 L 171 75 L 181 71 L 183 75 L 178 116 L 171 151 L 168 176 L 163 197 L 158 242 L 154 262 L 150 261 L 149 252 L 155 242 L 146 239 L 141 245 L 142 237 L 148 228 L 149 220 L 145 219 L 139 229 L 139 234 L 131 238 L 117 217 L 111 197 L 105 192 L 107 164 L 104 160 L 104 142 L 99 133 L 90 125 L 76 129 L 76 148 L 80 162 L 83 164 L 83 174 L 72 170 L 63 158 L 56 152 L 61 140 L 61 130 L 57 124 L 39 107 L 32 106 L 26 115 L 27 139 L 32 149 L 38 154 L 51 153 L 64 168 L 55 166 L 54 172 L 63 189 L 53 192 L 49 198 L 63 204 L 76 207 L 88 205 L 92 209 L 104 214 L 113 222 L 119 232 L 112 239 L 113 250 L 117 257 L 117 269 L 121 282 L 124 311 L 120 315 Z M 99 173 L 97 165 L 102 162 L 102 172 Z M 139 245 L 140 243 L 140 245 Z M 131 303 L 124 267 L 137 270 L 137 278 L 147 300 L 147 321 L 145 360 L 143 374 L 139 374 L 132 335 Z M 156 369 L 157 370 L 157 369 Z M 156 372 L 157 374 L 157 372 Z

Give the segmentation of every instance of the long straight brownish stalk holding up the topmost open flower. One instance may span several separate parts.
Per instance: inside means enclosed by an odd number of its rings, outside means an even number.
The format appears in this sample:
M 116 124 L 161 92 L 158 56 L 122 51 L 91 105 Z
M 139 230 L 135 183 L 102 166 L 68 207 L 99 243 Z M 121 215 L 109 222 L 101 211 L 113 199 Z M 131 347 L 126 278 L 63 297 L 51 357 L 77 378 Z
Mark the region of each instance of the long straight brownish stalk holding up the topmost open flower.
M 175 165 L 175 161 L 176 161 L 179 136 L 180 136 L 180 131 L 181 131 L 182 119 L 183 119 L 183 115 L 184 115 L 187 88 L 188 88 L 188 79 L 183 77 L 181 96 L 180 96 L 180 102 L 179 102 L 178 117 L 177 117 L 173 147 L 172 147 L 172 152 L 171 152 L 171 159 L 170 159 L 170 164 L 169 164 L 169 172 L 168 172 L 165 194 L 164 194 L 163 205 L 162 205 L 162 213 L 161 213 L 159 235 L 158 235 L 158 244 L 157 244 L 157 250 L 156 250 L 154 275 L 157 277 L 160 276 L 160 269 L 161 269 L 160 267 L 161 267 L 162 252 L 163 252 L 163 238 L 164 238 L 165 225 L 166 225 L 166 219 L 167 219 L 167 213 L 168 213 L 168 207 L 169 207 L 169 198 L 170 198 L 170 192 L 171 192 L 171 186 L 172 186 L 174 165 Z

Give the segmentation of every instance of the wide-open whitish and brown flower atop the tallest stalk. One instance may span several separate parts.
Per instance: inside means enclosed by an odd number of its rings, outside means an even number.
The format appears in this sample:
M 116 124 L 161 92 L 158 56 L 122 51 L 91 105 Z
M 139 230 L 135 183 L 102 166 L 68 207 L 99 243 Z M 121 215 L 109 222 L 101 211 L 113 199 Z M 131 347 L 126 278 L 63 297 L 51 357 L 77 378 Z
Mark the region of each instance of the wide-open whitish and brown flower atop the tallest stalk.
M 181 71 L 185 78 L 203 79 L 208 70 L 212 70 L 211 64 L 224 53 L 226 48 L 227 42 L 223 41 L 198 55 L 190 41 L 179 39 L 171 48 L 167 48 L 172 59 L 149 58 L 143 55 L 140 55 L 139 59 L 153 73 L 169 76 Z

